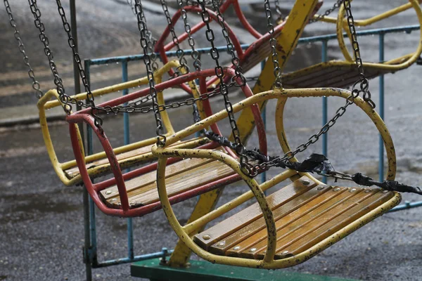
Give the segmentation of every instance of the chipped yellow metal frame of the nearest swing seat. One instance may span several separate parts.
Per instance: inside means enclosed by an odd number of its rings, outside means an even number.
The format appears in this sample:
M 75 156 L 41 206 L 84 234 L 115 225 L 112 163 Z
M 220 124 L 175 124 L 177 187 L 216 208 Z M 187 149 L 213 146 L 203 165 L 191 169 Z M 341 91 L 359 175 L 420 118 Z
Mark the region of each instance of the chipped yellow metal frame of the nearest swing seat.
M 241 112 L 242 110 L 245 110 L 253 104 L 263 103 L 271 99 L 279 100 L 276 112 L 276 130 L 279 131 L 278 136 L 281 148 L 283 148 L 284 152 L 288 152 L 290 151 L 288 141 L 286 138 L 286 134 L 283 131 L 283 122 L 282 120 L 280 120 L 282 119 L 283 108 L 287 98 L 322 96 L 338 96 L 341 98 L 348 98 L 350 97 L 350 95 L 350 91 L 333 88 L 274 90 L 266 91 L 263 93 L 257 93 L 255 96 L 246 98 L 240 103 L 236 103 L 233 106 L 233 109 L 234 112 Z M 390 133 L 388 133 L 388 129 L 386 128 L 381 117 L 376 113 L 375 110 L 373 110 L 367 103 L 365 103 L 362 98 L 355 98 L 354 100 L 355 104 L 362 110 L 364 110 L 366 115 L 371 118 L 373 124 L 375 124 L 376 128 L 378 129 L 379 133 L 383 138 L 385 150 L 388 155 L 389 172 L 387 178 L 389 180 L 393 180 L 395 178 L 396 161 L 394 145 L 392 143 Z M 399 204 L 399 201 L 401 200 L 399 193 L 394 192 L 394 196 L 391 200 L 385 202 L 385 204 L 382 204 L 380 207 L 374 209 L 365 216 L 362 216 L 357 221 L 351 223 L 349 226 L 339 230 L 334 235 L 331 235 L 331 237 L 328 237 L 325 240 L 314 245 L 314 247 L 312 247 L 311 249 L 293 257 L 274 260 L 274 254 L 276 251 L 276 228 L 273 214 L 271 212 L 271 209 L 269 208 L 269 203 L 266 200 L 264 191 L 278 183 L 281 183 L 281 181 L 285 181 L 287 178 L 297 176 L 298 172 L 288 169 L 283 173 L 274 176 L 274 178 L 271 178 L 264 183 L 258 184 L 254 178 L 245 176 L 245 174 L 242 173 L 241 166 L 237 159 L 234 159 L 233 157 L 226 155 L 222 152 L 219 152 L 217 150 L 169 148 L 169 145 L 172 145 L 173 143 L 176 143 L 177 141 L 180 141 L 181 139 L 186 138 L 187 136 L 191 136 L 192 134 L 200 131 L 201 129 L 204 129 L 206 126 L 215 124 L 216 122 L 219 122 L 227 116 L 228 115 L 225 110 L 217 112 L 215 115 L 207 117 L 206 119 L 203 119 L 203 121 L 193 124 L 192 126 L 188 126 L 188 128 L 174 133 L 172 136 L 169 136 L 167 138 L 167 143 L 165 147 L 160 148 L 157 145 L 153 145 L 152 148 L 153 155 L 158 157 L 157 184 L 158 193 L 160 195 L 160 201 L 162 203 L 162 209 L 165 211 L 165 215 L 167 216 L 170 225 L 179 236 L 179 239 L 184 242 L 184 244 L 186 244 L 186 246 L 191 249 L 194 253 L 196 253 L 198 256 L 207 261 L 210 261 L 212 263 L 229 264 L 231 266 L 245 266 L 250 268 L 284 268 L 288 266 L 294 266 L 298 263 L 306 261 L 307 259 L 310 259 L 312 256 L 318 254 L 320 251 L 331 246 L 331 244 L 338 242 L 338 240 L 341 240 L 343 237 L 349 235 L 354 230 L 357 230 L 364 224 L 368 223 L 369 221 L 372 221 L 374 218 L 381 216 L 381 214 L 383 214 L 385 211 Z M 236 197 L 234 200 L 231 200 L 231 202 L 222 205 L 222 207 L 219 207 L 214 211 L 210 211 L 209 213 L 201 216 L 195 221 L 191 221 L 186 226 L 181 226 L 170 205 L 166 191 L 165 169 L 166 160 L 169 157 L 217 159 L 218 161 L 223 162 L 224 164 L 230 166 L 231 169 L 236 171 L 236 173 L 241 176 L 243 181 L 247 183 L 248 187 L 250 188 L 250 191 L 245 192 L 239 197 Z M 304 175 L 309 176 L 309 178 L 311 178 L 313 181 L 316 181 L 316 179 L 310 176 L 309 174 L 305 173 Z M 320 182 L 316 181 L 316 183 Z M 196 234 L 197 231 L 203 228 L 207 223 L 210 223 L 210 221 L 214 220 L 215 218 L 222 216 L 222 214 L 226 214 L 228 211 L 231 211 L 232 209 L 238 207 L 240 204 L 243 204 L 247 200 L 252 199 L 252 197 L 255 197 L 255 199 L 257 200 L 257 203 L 259 204 L 260 209 L 262 210 L 262 214 L 267 225 L 267 251 L 264 256 L 264 259 L 255 260 L 235 258 L 231 256 L 219 256 L 205 251 L 204 249 L 200 248 L 195 242 L 193 242 L 193 235 Z

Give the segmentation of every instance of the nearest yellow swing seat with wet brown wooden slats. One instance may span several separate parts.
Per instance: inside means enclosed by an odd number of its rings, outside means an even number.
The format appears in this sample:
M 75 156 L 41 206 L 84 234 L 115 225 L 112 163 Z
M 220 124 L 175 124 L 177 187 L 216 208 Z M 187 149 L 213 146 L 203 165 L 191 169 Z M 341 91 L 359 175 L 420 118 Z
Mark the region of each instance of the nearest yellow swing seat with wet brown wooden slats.
M 241 112 L 250 105 L 276 99 L 276 133 L 283 152 L 287 153 L 292 151 L 283 125 L 283 112 L 288 98 L 326 96 L 347 99 L 350 95 L 350 91 L 334 88 L 276 89 L 257 93 L 234 104 L 233 111 Z M 396 171 L 395 148 L 387 127 L 362 98 L 354 98 L 354 105 L 365 112 L 381 134 L 388 159 L 387 179 L 393 180 Z M 218 150 L 170 148 L 172 143 L 227 116 L 225 110 L 217 112 L 170 136 L 164 147 L 154 145 L 152 149 L 153 155 L 158 157 L 158 194 L 170 226 L 188 249 L 206 261 L 267 269 L 295 266 L 381 216 L 401 200 L 398 192 L 325 185 L 310 174 L 292 169 L 286 169 L 264 183 L 257 183 L 255 178 L 243 174 L 238 159 Z M 181 226 L 167 194 L 171 185 L 165 176 L 170 168 L 166 164 L 169 157 L 217 159 L 233 169 L 250 190 Z M 298 160 L 293 157 L 290 161 Z M 289 178 L 293 183 L 283 183 Z M 271 195 L 264 194 L 270 188 L 283 185 L 284 188 Z M 255 204 L 205 228 L 208 223 L 253 199 L 256 200 Z

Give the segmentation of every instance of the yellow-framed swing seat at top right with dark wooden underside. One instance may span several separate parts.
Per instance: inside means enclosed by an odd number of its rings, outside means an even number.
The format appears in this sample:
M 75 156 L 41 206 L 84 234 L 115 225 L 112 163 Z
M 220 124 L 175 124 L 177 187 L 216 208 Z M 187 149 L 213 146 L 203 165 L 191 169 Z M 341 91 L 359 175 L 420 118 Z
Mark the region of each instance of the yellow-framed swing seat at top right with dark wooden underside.
M 422 11 L 421 6 L 417 0 L 409 0 L 410 3 L 399 6 L 391 11 L 378 15 L 376 17 L 370 18 L 368 20 L 356 20 L 355 25 L 357 26 L 366 26 L 370 25 L 373 22 L 383 20 L 395 15 L 396 13 L 405 11 L 409 8 L 414 8 L 416 15 L 418 17 L 419 25 L 422 25 Z M 295 72 L 290 72 L 283 74 L 283 86 L 286 89 L 294 88 L 316 88 L 316 87 L 338 87 L 345 88 L 352 86 L 355 81 L 359 78 L 359 73 L 357 72 L 356 63 L 350 55 L 349 51 L 345 46 L 345 41 L 343 37 L 343 27 L 347 27 L 347 20 L 344 18 L 345 8 L 340 6 L 337 20 L 333 18 L 323 18 L 322 20 L 326 22 L 336 22 L 337 23 L 337 39 L 338 46 L 345 57 L 345 60 L 331 60 L 325 63 L 319 63 L 312 65 L 310 67 L 305 67 L 302 70 L 297 70 Z M 347 29 L 345 29 L 347 30 Z M 350 37 L 350 32 L 346 31 L 347 35 Z M 393 60 L 382 63 L 368 63 L 364 62 L 363 67 L 365 70 L 365 76 L 368 79 L 378 77 L 383 74 L 394 73 L 399 70 L 404 70 L 407 67 L 410 67 L 416 60 L 419 58 L 419 55 L 422 53 L 422 30 L 420 31 L 420 39 L 418 43 L 418 48 L 414 53 L 404 55 Z

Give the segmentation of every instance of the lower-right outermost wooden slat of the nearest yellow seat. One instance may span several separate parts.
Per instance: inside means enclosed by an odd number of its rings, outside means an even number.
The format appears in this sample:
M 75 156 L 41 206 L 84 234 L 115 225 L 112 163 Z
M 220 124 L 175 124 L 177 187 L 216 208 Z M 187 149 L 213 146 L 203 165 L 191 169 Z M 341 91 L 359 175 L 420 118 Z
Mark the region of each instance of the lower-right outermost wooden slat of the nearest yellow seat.
M 283 258 L 283 251 L 289 251 L 291 254 L 298 254 L 302 251 L 306 251 L 309 247 L 312 247 L 314 244 L 317 244 L 324 240 L 326 237 L 333 235 L 341 228 L 344 228 L 348 224 L 356 221 L 359 217 L 364 216 L 369 211 L 376 209 L 376 207 L 387 202 L 394 196 L 392 192 L 371 192 L 371 197 L 366 197 L 366 200 L 359 202 L 359 204 L 354 204 L 350 209 L 344 211 L 343 214 L 336 216 L 335 219 L 329 220 L 327 223 L 324 223 L 319 228 L 309 232 L 309 235 L 298 240 L 297 242 L 291 244 L 290 246 L 280 249 L 276 254 L 276 259 Z

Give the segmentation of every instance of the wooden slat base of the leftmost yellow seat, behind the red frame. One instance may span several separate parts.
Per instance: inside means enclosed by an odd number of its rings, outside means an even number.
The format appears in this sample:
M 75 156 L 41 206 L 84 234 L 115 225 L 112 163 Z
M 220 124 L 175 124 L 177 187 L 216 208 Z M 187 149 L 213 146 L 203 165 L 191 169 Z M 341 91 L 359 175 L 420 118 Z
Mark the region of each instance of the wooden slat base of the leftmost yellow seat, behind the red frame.
M 174 143 L 174 145 L 172 146 L 183 145 L 184 148 L 195 148 L 198 145 L 203 145 L 207 142 L 209 142 L 207 138 L 193 138 L 188 141 L 180 141 L 178 143 Z M 154 159 L 153 154 L 151 153 L 151 148 L 153 147 L 155 142 L 152 141 L 152 143 L 153 144 L 151 145 L 141 146 L 140 148 L 134 148 L 133 150 L 128 150 L 116 154 L 117 160 L 120 164 L 120 168 L 124 169 L 130 166 L 135 166 L 136 164 L 151 162 Z M 100 157 L 100 159 L 87 162 L 88 172 L 92 176 L 100 176 L 101 174 L 105 174 L 110 171 L 110 163 L 108 162 L 106 154 L 103 153 L 103 155 L 101 156 L 102 157 Z M 93 171 L 94 169 L 96 171 Z M 91 171 L 93 172 L 91 173 Z M 65 169 L 65 175 L 68 176 L 68 178 L 70 179 L 79 176 L 79 169 L 77 167 L 76 162 L 69 169 Z

